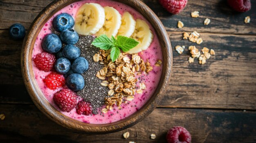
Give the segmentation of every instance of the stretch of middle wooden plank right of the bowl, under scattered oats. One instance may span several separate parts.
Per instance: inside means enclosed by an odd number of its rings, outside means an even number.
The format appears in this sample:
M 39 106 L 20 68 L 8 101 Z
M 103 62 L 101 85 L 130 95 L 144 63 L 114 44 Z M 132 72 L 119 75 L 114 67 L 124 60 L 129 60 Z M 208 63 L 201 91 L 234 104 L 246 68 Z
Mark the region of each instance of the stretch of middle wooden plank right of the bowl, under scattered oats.
M 170 86 L 162 100 L 164 107 L 256 109 L 256 37 L 201 33 L 200 45 L 181 40 L 182 33 L 169 32 L 173 51 Z M 248 45 L 247 45 L 248 44 Z M 189 64 L 188 46 L 213 48 L 216 55 L 200 65 Z

